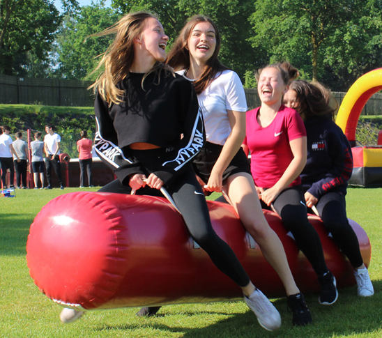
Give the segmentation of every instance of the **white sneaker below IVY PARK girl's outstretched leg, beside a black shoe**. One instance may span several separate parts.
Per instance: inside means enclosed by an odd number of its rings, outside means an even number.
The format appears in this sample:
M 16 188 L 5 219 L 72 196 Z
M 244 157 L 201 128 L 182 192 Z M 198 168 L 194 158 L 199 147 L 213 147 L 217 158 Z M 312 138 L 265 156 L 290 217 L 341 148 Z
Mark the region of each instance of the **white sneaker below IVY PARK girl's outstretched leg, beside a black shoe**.
M 245 304 L 256 314 L 259 324 L 268 331 L 281 326 L 281 316 L 266 296 L 256 289 L 250 296 L 244 296 Z

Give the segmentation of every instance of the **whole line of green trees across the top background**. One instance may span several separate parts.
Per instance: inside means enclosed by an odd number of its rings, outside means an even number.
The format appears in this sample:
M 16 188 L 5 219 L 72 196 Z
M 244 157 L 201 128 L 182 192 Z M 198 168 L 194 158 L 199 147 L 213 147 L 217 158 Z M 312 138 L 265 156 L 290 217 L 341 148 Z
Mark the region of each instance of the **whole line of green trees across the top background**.
M 382 66 L 382 0 L 1 0 L 0 73 L 93 80 L 112 37 L 91 37 L 130 11 L 156 13 L 169 48 L 185 20 L 210 16 L 222 35 L 220 60 L 256 86 L 254 70 L 288 60 L 304 79 L 347 91 Z

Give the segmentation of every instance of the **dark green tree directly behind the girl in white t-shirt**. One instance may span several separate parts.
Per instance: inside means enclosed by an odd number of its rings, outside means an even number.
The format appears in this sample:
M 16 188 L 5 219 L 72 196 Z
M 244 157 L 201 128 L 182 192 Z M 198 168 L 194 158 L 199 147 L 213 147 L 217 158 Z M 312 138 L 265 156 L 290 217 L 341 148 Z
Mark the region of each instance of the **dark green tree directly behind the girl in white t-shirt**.
M 169 47 L 183 28 L 185 20 L 196 14 L 208 15 L 215 21 L 222 36 L 220 61 L 244 79 L 245 72 L 263 63 L 261 47 L 255 50 L 249 42 L 250 14 L 253 0 L 114 0 L 112 7 L 122 13 L 148 10 L 156 13 L 170 38 Z

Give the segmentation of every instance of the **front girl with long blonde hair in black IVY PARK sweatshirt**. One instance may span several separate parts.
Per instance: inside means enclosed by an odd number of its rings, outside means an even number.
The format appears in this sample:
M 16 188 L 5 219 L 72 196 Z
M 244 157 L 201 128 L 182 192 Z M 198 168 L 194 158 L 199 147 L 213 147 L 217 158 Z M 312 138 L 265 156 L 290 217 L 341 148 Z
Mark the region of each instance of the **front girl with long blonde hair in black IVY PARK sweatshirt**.
M 94 144 L 117 179 L 99 191 L 160 195 L 160 188 L 166 187 L 190 236 L 245 296 L 251 295 L 257 289 L 231 248 L 213 231 L 192 169 L 205 141 L 203 118 L 192 84 L 163 64 L 169 38 L 162 24 L 149 13 L 130 13 L 100 35 L 109 33 L 116 33 L 116 38 L 100 61 L 105 71 L 91 86 L 96 95 Z M 258 320 L 267 330 L 275 330 L 281 325 L 280 314 L 266 301 L 269 306 Z M 252 302 L 259 308 L 257 299 Z M 70 323 L 81 315 L 63 309 L 60 318 Z

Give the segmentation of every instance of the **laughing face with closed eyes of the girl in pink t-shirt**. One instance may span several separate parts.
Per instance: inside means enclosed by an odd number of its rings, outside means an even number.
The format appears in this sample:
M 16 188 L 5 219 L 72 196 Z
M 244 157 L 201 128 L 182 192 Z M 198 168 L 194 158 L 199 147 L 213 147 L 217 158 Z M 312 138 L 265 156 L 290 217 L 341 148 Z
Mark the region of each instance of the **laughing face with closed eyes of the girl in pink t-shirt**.
M 282 80 L 280 70 L 273 67 L 264 68 L 259 76 L 257 91 L 262 103 L 273 105 L 281 103 L 282 95 L 288 86 Z

